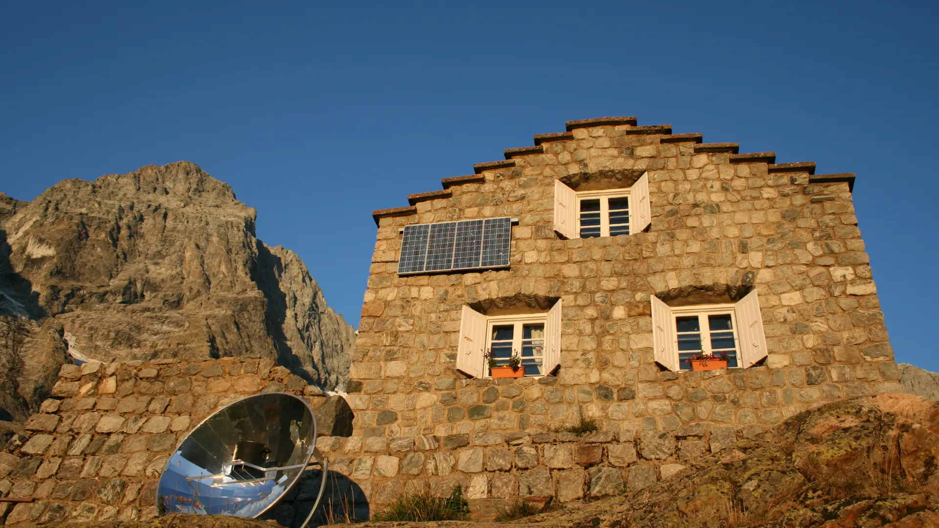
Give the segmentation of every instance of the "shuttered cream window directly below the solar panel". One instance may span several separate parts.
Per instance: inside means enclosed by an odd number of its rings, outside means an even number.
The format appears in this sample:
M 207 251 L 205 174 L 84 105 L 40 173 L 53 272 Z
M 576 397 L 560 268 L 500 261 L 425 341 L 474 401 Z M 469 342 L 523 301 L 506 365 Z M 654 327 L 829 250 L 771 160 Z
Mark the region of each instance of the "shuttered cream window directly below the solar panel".
M 500 365 L 519 355 L 525 376 L 546 376 L 561 365 L 561 301 L 546 313 L 491 316 L 463 306 L 456 368 L 473 378 L 488 378 L 485 351 Z

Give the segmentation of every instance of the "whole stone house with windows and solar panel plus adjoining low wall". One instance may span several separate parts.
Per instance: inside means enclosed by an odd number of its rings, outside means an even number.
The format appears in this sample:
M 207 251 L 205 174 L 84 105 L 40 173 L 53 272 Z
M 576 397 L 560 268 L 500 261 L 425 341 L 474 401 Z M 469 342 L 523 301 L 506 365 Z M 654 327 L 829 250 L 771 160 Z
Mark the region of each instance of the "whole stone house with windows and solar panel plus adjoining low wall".
M 670 132 L 570 121 L 373 213 L 353 427 L 316 444 L 350 491 L 322 520 L 457 485 L 480 517 L 642 489 L 813 406 L 902 392 L 854 175 Z M 689 370 L 700 352 L 730 367 Z M 486 356 L 513 355 L 525 376 L 492 379 Z M 341 402 L 267 359 L 64 365 L 0 451 L 0 520 L 152 517 L 175 446 L 263 391 Z

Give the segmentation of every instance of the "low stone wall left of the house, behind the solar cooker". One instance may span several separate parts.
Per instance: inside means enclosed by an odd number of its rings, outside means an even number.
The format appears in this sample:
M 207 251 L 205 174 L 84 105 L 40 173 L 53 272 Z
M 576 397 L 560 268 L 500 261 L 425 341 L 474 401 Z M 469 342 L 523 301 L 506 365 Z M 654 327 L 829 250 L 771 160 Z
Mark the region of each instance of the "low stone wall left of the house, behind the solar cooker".
M 269 359 L 64 365 L 53 396 L 0 452 L 0 492 L 34 499 L 0 503 L 0 520 L 153 517 L 177 443 L 220 407 L 267 391 L 328 407 L 319 389 Z

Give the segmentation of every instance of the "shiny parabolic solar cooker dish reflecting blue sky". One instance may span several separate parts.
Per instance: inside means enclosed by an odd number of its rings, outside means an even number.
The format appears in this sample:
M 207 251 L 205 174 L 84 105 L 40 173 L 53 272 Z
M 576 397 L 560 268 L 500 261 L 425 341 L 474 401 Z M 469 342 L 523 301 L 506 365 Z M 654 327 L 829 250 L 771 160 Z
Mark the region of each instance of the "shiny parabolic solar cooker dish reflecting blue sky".
M 313 411 L 288 393 L 241 398 L 179 444 L 160 477 L 157 511 L 255 518 L 284 497 L 311 464 L 322 476 L 302 526 L 313 517 L 326 484 Z

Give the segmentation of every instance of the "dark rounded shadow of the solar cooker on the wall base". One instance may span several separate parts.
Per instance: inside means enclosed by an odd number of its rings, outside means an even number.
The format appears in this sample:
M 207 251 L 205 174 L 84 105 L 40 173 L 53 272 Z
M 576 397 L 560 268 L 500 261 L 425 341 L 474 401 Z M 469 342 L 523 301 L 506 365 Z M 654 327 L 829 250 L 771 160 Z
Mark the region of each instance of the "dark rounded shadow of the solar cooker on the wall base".
M 316 501 L 321 475 L 319 470 L 306 471 L 281 504 L 263 515 L 261 520 L 276 520 L 281 526 L 300 528 Z M 362 522 L 368 520 L 370 513 L 368 499 L 358 484 L 344 474 L 328 472 L 323 501 L 316 508 L 316 513 L 307 527 L 314 528 L 337 522 Z

